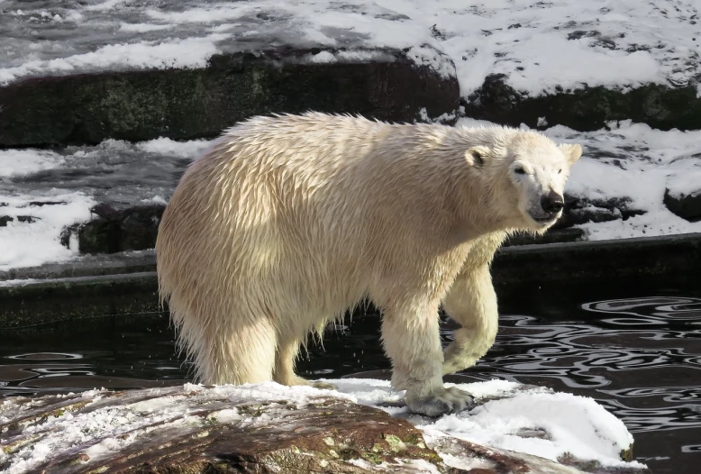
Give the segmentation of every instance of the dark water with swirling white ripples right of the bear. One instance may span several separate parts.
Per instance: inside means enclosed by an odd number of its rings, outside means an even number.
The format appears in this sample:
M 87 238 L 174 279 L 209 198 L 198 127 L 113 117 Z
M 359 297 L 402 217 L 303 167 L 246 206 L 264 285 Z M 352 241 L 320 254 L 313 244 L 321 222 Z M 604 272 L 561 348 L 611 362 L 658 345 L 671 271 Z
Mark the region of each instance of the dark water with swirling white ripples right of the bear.
M 633 433 L 701 427 L 701 299 L 617 299 L 581 308 L 578 321 L 558 324 L 504 316 L 494 350 L 466 375 L 595 397 Z

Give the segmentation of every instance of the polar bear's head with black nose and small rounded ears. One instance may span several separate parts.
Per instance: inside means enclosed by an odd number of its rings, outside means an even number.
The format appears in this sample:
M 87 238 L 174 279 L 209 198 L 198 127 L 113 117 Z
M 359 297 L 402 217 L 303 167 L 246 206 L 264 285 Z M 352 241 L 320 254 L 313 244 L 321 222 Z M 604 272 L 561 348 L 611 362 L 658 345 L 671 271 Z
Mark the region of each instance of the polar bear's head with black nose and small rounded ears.
M 488 194 L 506 226 L 545 232 L 562 215 L 569 170 L 581 157 L 582 147 L 558 145 L 539 132 L 514 129 L 496 132 L 489 142 L 471 147 L 466 158 L 487 178 L 483 182 L 488 183 Z

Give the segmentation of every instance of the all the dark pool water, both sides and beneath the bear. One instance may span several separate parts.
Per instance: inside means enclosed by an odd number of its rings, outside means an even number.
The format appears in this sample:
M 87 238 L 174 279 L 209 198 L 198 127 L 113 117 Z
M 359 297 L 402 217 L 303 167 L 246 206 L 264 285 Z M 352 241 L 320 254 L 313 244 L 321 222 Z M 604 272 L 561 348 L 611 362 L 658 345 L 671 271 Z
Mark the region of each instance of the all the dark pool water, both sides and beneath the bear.
M 624 421 L 655 473 L 701 465 L 701 290 L 654 285 L 528 290 L 500 296 L 495 346 L 466 381 L 504 378 L 594 397 Z M 596 296 L 596 297 L 592 297 Z M 313 378 L 389 364 L 376 314 L 356 315 L 299 363 Z M 443 336 L 450 339 L 451 324 Z M 177 384 L 191 366 L 162 314 L 95 318 L 39 331 L 0 330 L 0 397 Z

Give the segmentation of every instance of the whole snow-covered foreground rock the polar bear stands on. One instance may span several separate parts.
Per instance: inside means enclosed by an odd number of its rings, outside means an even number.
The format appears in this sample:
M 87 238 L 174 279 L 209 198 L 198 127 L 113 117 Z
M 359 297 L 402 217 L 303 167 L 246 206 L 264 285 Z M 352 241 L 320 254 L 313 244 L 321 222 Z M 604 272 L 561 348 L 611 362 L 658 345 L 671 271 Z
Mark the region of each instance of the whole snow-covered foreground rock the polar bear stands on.
M 438 419 L 410 414 L 389 382 L 332 380 L 340 392 L 275 383 L 192 384 L 6 398 L 0 472 L 153 469 L 243 472 L 467 472 L 507 467 L 576 473 L 645 469 L 633 437 L 584 397 L 493 380 L 464 386 L 478 406 Z M 586 462 L 585 462 L 586 461 Z

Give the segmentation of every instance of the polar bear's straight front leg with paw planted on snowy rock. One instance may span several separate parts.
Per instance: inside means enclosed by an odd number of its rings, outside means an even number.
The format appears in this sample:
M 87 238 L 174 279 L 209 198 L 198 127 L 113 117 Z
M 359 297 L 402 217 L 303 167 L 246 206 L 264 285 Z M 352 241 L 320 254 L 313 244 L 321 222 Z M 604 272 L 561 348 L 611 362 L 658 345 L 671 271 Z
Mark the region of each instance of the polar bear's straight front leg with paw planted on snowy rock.
M 438 304 L 404 311 L 385 310 L 382 339 L 392 360 L 392 386 L 406 390 L 414 413 L 440 416 L 473 406 L 473 397 L 457 387 L 443 387 L 443 354 L 438 332 Z

